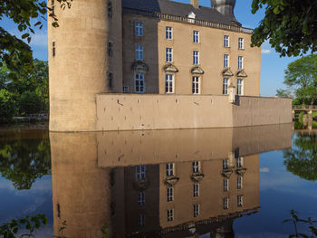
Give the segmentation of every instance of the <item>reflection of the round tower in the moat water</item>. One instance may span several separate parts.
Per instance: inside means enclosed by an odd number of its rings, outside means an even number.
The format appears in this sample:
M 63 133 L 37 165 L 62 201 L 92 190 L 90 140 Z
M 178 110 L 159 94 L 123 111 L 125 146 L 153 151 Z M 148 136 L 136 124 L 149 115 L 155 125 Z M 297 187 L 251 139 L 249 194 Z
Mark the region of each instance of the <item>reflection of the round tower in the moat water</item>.
M 54 234 L 102 237 L 110 227 L 110 169 L 97 167 L 94 133 L 51 133 Z

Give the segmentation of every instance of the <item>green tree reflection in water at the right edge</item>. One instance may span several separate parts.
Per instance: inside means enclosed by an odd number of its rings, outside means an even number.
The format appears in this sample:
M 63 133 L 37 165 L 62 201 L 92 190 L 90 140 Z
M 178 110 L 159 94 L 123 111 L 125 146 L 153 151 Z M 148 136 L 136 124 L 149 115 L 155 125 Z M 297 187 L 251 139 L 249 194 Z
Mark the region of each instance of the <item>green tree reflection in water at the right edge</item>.
M 296 135 L 293 148 L 283 152 L 287 170 L 306 180 L 317 180 L 317 134 Z

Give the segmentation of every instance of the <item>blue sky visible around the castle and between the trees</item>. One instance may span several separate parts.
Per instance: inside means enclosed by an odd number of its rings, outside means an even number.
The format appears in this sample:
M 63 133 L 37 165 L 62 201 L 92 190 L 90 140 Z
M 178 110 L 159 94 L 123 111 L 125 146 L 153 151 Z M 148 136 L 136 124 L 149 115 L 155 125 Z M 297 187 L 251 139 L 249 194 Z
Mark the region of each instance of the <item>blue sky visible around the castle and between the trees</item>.
M 183 3 L 190 3 L 190 0 L 175 0 Z M 251 14 L 252 0 L 236 0 L 235 18 L 245 27 L 255 28 L 260 20 L 264 17 L 264 11 L 257 14 Z M 199 5 L 210 6 L 210 0 L 199 0 Z M 44 23 L 45 24 L 45 23 Z M 11 33 L 17 32 L 14 24 L 9 21 L 0 21 L 0 26 L 5 26 L 5 29 Z M 34 50 L 34 58 L 47 60 L 47 28 L 35 31 L 35 35 L 31 42 Z M 274 96 L 277 88 L 283 87 L 283 71 L 287 64 L 294 61 L 294 58 L 280 58 L 279 54 L 271 49 L 269 43 L 264 43 L 262 46 L 262 71 L 261 71 L 261 95 Z

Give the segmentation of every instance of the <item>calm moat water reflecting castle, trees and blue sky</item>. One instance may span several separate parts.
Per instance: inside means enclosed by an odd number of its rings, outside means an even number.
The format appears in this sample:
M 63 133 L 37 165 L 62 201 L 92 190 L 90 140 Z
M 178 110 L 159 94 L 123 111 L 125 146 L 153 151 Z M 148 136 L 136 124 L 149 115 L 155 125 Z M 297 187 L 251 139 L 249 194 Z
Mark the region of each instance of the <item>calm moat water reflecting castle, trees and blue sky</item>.
M 288 237 L 291 210 L 317 220 L 317 129 L 296 127 L 3 128 L 0 225 L 45 214 L 35 237 Z

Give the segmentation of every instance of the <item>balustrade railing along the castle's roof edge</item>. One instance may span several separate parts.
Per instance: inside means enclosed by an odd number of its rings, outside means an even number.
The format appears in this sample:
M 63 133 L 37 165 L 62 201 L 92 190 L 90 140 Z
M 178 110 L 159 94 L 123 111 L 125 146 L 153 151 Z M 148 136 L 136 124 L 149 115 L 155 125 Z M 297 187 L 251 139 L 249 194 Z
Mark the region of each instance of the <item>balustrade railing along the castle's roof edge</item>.
M 173 22 L 179 22 L 179 23 L 187 23 L 187 24 L 197 24 L 217 29 L 225 29 L 228 31 L 234 31 L 234 32 L 240 32 L 240 33 L 253 33 L 253 29 L 245 28 L 241 26 L 235 26 L 230 24 L 219 24 L 219 23 L 213 23 L 213 22 L 207 22 L 203 20 L 197 20 L 185 16 L 179 16 L 179 15 L 173 15 L 173 14 L 162 14 L 158 12 L 150 12 L 145 10 L 139 10 L 135 8 L 129 8 L 129 7 L 123 7 L 123 10 L 128 10 L 131 14 L 142 14 L 146 16 L 151 16 L 163 20 L 173 21 Z

